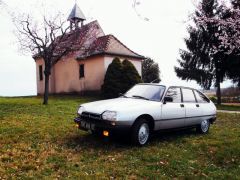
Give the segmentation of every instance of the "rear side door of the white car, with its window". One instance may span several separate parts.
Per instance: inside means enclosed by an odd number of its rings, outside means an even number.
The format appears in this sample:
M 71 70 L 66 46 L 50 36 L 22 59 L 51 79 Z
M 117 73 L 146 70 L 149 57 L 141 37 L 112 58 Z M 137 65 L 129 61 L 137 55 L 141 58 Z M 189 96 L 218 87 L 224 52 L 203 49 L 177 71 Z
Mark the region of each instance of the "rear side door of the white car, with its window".
M 186 111 L 185 126 L 198 124 L 202 116 L 202 108 L 197 103 L 193 90 L 182 88 L 182 95 Z

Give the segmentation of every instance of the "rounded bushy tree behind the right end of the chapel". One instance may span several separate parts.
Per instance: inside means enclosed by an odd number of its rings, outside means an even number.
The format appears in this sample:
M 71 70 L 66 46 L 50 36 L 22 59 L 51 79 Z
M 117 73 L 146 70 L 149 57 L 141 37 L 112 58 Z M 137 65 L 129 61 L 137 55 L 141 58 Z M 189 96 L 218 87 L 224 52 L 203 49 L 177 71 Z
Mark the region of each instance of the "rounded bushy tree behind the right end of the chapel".
M 151 58 L 144 59 L 142 63 L 142 80 L 145 83 L 161 81 L 158 64 Z

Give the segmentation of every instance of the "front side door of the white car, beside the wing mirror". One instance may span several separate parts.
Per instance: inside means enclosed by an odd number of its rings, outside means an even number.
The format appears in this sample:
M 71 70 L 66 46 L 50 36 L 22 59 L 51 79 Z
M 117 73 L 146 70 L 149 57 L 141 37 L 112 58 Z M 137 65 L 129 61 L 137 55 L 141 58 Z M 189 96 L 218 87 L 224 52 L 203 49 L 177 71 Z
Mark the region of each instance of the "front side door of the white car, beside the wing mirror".
M 179 87 L 170 87 L 165 96 L 172 97 L 173 101 L 163 102 L 159 129 L 184 126 L 185 107 L 182 103 L 181 89 Z

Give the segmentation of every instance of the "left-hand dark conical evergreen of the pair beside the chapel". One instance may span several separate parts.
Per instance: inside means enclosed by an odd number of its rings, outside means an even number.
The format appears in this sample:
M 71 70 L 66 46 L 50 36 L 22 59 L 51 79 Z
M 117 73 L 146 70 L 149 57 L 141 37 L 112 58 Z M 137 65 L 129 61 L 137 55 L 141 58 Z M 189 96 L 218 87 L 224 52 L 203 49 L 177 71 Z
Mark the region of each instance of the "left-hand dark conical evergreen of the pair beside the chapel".
M 119 58 L 114 58 L 108 66 L 102 85 L 102 94 L 105 98 L 116 98 L 119 93 L 122 93 L 122 86 L 122 64 Z

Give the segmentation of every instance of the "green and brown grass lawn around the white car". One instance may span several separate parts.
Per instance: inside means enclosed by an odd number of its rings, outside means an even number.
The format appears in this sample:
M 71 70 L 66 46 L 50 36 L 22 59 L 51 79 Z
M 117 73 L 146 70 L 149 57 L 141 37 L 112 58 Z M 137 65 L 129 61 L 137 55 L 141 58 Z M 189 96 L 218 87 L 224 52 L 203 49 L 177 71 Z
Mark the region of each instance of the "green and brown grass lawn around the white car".
M 73 123 L 94 98 L 0 98 L 0 179 L 240 179 L 240 114 L 218 114 L 209 134 L 159 133 L 143 148 L 91 136 Z

